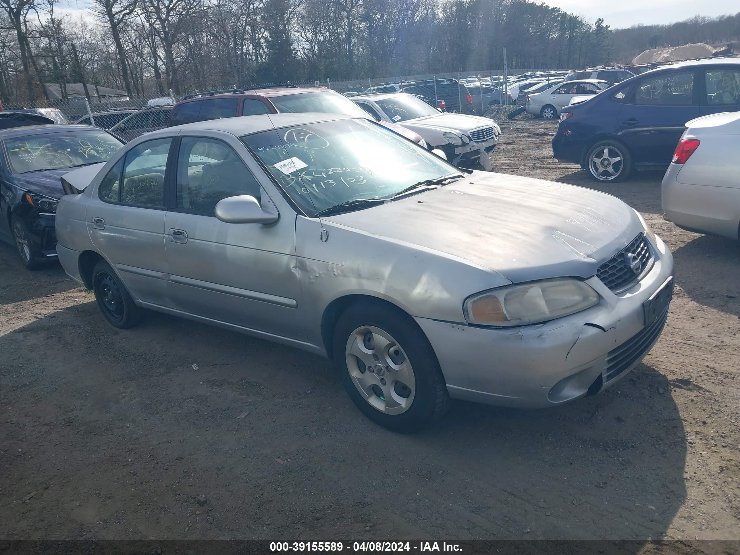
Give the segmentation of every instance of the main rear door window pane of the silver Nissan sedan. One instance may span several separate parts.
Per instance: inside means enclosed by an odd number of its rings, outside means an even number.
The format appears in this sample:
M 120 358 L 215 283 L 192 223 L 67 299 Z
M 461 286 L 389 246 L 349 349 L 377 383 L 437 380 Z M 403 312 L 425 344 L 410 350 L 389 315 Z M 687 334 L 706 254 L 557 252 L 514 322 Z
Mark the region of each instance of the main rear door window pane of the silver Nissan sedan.
M 147 141 L 132 148 L 124 162 L 121 202 L 164 205 L 164 172 L 172 138 Z

